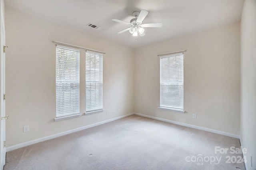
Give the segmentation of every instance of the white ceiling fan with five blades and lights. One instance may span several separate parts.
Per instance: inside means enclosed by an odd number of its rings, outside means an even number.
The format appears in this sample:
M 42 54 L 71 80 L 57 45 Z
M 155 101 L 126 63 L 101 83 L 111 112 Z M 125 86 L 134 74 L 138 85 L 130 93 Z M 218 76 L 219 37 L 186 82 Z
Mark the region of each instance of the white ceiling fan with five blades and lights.
M 126 29 L 118 32 L 118 34 L 121 34 L 121 33 L 129 30 L 129 32 L 132 34 L 132 36 L 137 37 L 138 34 L 140 36 L 144 36 L 145 35 L 144 28 L 146 28 L 146 27 L 162 27 L 163 26 L 162 23 L 142 24 L 142 21 L 148 15 L 148 11 L 146 11 L 146 10 L 141 10 L 140 12 L 134 11 L 132 14 L 133 14 L 133 16 L 135 16 L 135 18 L 132 18 L 130 20 L 130 22 L 126 22 L 126 21 L 122 21 L 122 20 L 118 20 L 118 19 L 112 19 L 112 21 L 120 22 L 120 23 L 127 24 L 127 25 L 131 26 L 130 28 L 126 28 Z

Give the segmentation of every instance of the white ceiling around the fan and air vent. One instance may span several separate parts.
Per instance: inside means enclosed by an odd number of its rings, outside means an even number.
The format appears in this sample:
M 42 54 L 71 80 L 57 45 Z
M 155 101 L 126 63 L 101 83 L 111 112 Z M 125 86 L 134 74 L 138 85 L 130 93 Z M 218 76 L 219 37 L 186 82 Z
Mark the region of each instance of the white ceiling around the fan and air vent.
M 131 47 L 239 21 L 243 4 L 244 0 L 5 0 L 6 8 Z M 162 28 L 145 28 L 146 36 L 137 41 L 129 32 L 117 34 L 128 25 L 112 18 L 130 22 L 132 12 L 142 9 L 149 12 L 143 23 L 162 22 Z M 89 22 L 101 28 L 86 26 Z

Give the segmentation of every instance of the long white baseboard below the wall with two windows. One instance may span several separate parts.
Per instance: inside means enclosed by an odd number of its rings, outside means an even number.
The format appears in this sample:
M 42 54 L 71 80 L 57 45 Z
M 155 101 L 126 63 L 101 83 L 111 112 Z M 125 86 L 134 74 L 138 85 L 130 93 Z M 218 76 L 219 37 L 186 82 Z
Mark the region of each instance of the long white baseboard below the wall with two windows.
M 14 145 L 14 146 L 10 146 L 10 147 L 6 148 L 6 152 L 9 152 L 9 151 L 11 151 L 11 150 L 15 150 L 15 149 L 18 149 L 18 148 L 22 148 L 22 147 L 25 147 L 25 146 L 28 146 L 28 145 L 36 144 L 36 143 L 38 143 L 38 142 L 43 142 L 43 141 L 45 141 L 45 140 L 50 140 L 50 139 L 53 139 L 53 138 L 58 138 L 58 137 L 60 137 L 60 136 L 66 135 L 66 134 L 78 132 L 78 131 L 80 131 L 80 130 L 84 130 L 84 129 L 87 129 L 87 128 L 91 128 L 91 127 L 98 126 L 98 125 L 101 125 L 101 124 L 105 124 L 105 123 L 108 123 L 108 122 L 112 122 L 112 121 L 114 121 L 114 120 L 118 120 L 118 119 L 121 119 L 121 118 L 130 116 L 130 115 L 132 115 L 132 114 L 134 114 L 134 113 L 126 114 L 126 115 L 124 115 L 124 116 L 119 116 L 119 117 L 116 117 L 116 118 L 104 120 L 104 121 L 102 121 L 102 122 L 98 122 L 98 123 L 90 124 L 90 125 L 83 126 L 83 127 L 80 127 L 80 128 L 68 130 L 68 131 L 66 131 L 66 132 L 61 132 L 61 133 L 54 134 L 54 135 L 51 135 L 51 136 L 46 136 L 46 137 L 43 137 L 43 138 L 39 138 L 39 139 L 35 139 L 35 140 L 30 140 L 30 141 L 28 141 L 28 142 L 24 142 L 24 143 L 21 143 L 21 144 L 17 144 L 17 145 Z

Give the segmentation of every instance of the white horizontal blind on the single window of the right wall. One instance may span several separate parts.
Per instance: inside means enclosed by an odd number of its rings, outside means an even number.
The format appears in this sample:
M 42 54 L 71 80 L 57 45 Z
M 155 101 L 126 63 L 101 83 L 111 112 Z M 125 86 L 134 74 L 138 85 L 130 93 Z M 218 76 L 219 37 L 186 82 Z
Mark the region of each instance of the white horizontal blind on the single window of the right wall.
M 160 107 L 183 110 L 183 53 L 160 58 Z

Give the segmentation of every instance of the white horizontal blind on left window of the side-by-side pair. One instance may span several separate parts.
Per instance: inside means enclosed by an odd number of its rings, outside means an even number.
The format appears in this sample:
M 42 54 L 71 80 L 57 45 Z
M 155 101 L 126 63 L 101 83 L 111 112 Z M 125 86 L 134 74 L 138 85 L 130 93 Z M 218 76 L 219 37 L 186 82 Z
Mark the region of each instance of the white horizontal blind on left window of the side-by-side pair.
M 78 49 L 56 46 L 56 117 L 79 113 Z

